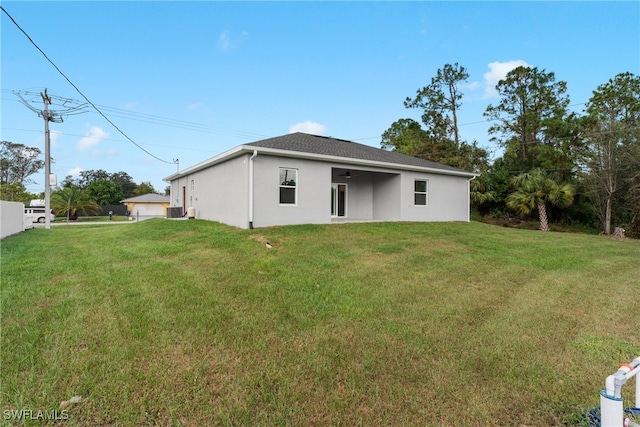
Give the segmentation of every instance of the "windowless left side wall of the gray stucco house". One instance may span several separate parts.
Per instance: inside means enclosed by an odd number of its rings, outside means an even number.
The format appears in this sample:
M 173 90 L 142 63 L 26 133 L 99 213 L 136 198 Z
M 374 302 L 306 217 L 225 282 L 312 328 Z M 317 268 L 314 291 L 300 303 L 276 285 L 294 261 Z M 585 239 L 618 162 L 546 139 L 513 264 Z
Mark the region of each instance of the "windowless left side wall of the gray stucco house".
M 249 157 L 242 155 L 171 181 L 171 206 L 182 206 L 185 211 L 193 207 L 196 218 L 247 228 Z

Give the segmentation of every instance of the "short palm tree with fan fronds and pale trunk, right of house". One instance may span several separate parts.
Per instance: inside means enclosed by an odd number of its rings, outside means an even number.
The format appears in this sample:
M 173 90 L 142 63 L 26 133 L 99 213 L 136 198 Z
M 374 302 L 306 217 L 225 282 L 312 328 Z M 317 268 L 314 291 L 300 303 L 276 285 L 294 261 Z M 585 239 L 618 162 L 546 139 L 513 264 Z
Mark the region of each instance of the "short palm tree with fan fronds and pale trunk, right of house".
M 541 169 L 521 173 L 511 180 L 515 192 L 506 199 L 507 206 L 527 215 L 538 209 L 540 230 L 549 231 L 547 203 L 565 208 L 573 203 L 575 188 L 569 183 L 558 183 Z

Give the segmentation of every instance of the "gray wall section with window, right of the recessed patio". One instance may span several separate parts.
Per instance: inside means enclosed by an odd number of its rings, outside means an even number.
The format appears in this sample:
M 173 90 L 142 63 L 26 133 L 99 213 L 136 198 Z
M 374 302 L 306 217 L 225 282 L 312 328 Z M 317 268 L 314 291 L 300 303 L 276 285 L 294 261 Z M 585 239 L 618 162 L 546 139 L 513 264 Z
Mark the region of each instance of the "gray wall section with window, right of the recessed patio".
M 415 206 L 415 180 L 427 180 L 427 205 Z M 469 221 L 469 180 L 464 177 L 402 174 L 402 221 Z

